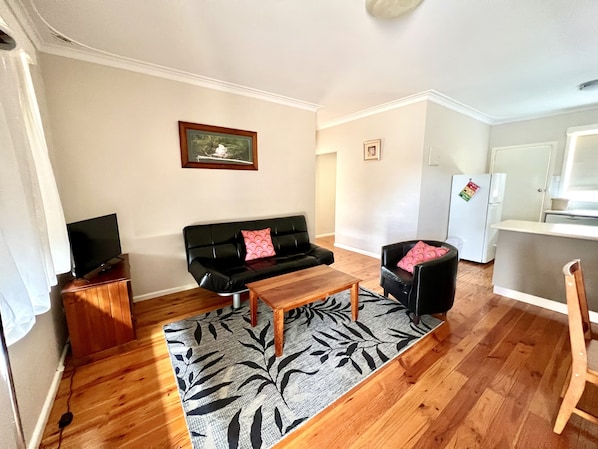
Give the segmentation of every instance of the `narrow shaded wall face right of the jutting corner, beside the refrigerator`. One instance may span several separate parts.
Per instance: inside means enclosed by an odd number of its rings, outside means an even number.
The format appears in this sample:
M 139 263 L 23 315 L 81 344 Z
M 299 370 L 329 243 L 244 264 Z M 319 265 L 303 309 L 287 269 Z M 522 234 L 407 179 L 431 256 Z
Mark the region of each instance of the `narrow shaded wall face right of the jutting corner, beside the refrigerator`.
M 425 123 L 417 238 L 445 240 L 452 175 L 488 171 L 490 126 L 430 102 Z M 438 165 L 431 166 L 431 149 Z

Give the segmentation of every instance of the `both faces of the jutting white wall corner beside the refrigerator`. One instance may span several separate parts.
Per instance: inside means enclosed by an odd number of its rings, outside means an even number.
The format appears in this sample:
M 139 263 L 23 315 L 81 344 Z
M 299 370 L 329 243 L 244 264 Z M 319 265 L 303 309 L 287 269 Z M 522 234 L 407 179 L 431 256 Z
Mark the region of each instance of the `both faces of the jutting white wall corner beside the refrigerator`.
M 320 130 L 317 152 L 337 152 L 335 243 L 378 256 L 387 243 L 446 239 L 451 176 L 487 170 L 488 136 L 488 125 L 431 101 Z M 376 138 L 381 160 L 363 161 L 363 141 Z

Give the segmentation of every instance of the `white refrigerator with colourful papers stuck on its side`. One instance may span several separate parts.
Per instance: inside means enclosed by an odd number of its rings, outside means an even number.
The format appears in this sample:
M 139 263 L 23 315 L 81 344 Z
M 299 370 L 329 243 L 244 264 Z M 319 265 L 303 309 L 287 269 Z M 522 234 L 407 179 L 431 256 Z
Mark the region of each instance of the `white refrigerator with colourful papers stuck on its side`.
M 453 176 L 448 238 L 458 239 L 461 259 L 494 259 L 498 231 L 491 226 L 501 221 L 506 179 L 505 173 Z

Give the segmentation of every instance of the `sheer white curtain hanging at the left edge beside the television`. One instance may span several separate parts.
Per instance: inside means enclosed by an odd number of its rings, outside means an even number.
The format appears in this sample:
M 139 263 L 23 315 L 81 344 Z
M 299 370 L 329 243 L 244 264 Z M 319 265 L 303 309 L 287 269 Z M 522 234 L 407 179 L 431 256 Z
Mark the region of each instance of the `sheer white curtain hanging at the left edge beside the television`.
M 0 307 L 8 345 L 50 308 L 70 270 L 64 214 L 27 55 L 0 52 Z

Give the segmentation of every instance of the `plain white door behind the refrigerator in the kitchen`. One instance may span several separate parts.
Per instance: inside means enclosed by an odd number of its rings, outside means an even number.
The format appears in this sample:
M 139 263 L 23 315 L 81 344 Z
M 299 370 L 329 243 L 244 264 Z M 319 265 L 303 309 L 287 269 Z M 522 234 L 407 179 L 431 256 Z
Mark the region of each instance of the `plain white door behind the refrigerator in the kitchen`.
M 492 148 L 490 171 L 506 173 L 503 220 L 541 221 L 556 142 Z

